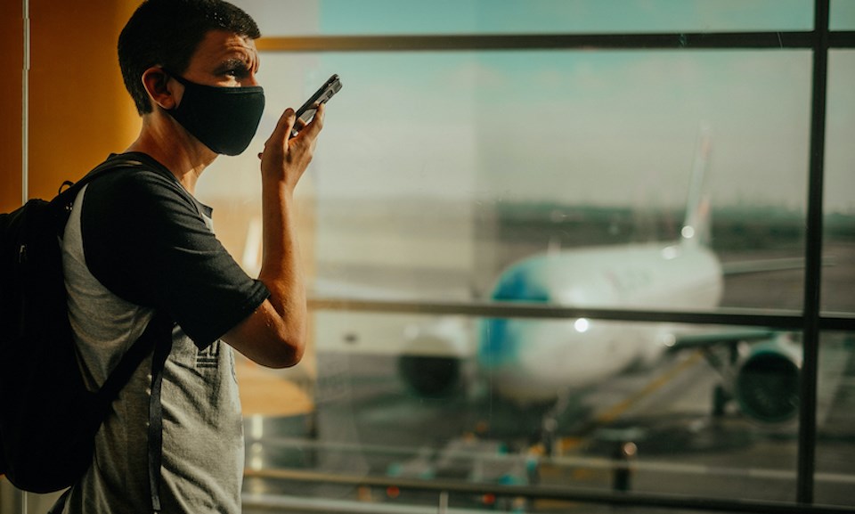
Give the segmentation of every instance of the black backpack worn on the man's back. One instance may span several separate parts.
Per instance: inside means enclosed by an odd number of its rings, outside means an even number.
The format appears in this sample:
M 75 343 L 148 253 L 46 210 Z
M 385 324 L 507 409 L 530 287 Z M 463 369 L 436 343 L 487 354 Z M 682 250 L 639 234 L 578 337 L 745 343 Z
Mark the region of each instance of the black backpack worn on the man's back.
M 99 175 L 142 163 L 119 157 L 53 200 L 0 214 L 0 475 L 33 493 L 73 485 L 92 464 L 94 436 L 110 403 L 151 355 L 161 316 L 97 392 L 77 362 L 62 274 L 61 237 L 77 192 Z M 163 337 L 163 336 L 160 336 Z M 168 339 L 168 338 L 167 338 Z

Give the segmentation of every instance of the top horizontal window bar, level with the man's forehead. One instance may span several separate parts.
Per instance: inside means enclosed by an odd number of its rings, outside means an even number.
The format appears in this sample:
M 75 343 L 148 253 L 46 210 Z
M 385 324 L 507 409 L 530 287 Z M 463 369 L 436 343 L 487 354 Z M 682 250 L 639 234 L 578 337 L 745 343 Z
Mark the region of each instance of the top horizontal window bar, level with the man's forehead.
M 810 31 L 640 34 L 430 34 L 262 37 L 265 52 L 413 52 L 489 50 L 812 49 Z M 832 48 L 855 47 L 855 32 L 832 32 Z

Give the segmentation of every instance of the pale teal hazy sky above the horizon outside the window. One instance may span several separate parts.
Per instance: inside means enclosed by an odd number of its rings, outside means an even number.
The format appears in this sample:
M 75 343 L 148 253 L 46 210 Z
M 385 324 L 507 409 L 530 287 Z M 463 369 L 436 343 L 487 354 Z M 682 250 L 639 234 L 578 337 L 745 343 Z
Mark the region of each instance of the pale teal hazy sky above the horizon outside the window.
M 808 30 L 806 0 L 233 0 L 266 36 Z M 855 28 L 835 0 L 832 29 Z M 685 200 L 709 134 L 713 202 L 803 210 L 808 51 L 263 53 L 275 119 L 338 73 L 307 186 L 406 197 L 663 207 Z M 826 211 L 855 213 L 855 51 L 829 67 Z M 252 152 L 248 152 L 252 153 Z M 242 160 L 241 160 L 242 159 Z M 221 165 L 256 167 L 254 157 Z M 208 191 L 254 194 L 254 172 Z M 237 182 L 236 182 L 237 181 Z

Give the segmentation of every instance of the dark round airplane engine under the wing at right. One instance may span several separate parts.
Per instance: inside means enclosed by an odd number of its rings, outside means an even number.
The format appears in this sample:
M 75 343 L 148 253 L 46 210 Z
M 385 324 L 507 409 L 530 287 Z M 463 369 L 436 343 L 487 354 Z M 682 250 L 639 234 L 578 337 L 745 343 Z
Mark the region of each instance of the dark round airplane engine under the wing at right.
M 731 394 L 753 420 L 778 424 L 799 411 L 801 356 L 788 340 L 769 340 L 749 347 L 739 363 Z

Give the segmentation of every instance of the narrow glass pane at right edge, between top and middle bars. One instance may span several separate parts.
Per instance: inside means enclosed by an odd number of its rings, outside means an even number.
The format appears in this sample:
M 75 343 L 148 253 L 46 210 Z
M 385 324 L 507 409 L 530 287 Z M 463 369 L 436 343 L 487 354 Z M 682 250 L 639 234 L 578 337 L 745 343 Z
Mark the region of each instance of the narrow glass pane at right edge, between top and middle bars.
M 853 313 L 855 298 L 855 52 L 834 51 L 828 59 L 826 120 L 825 237 L 822 308 Z

